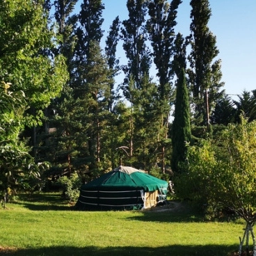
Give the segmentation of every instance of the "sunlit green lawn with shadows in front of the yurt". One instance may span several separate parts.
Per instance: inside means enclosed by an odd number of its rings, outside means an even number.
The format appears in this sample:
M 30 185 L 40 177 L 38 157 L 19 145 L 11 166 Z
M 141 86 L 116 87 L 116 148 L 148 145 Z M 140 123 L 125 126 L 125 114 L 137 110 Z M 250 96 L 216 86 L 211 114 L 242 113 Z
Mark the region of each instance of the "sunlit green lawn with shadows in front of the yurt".
M 58 194 L 0 209 L 0 255 L 227 256 L 241 222 L 206 222 L 182 211 L 74 211 Z

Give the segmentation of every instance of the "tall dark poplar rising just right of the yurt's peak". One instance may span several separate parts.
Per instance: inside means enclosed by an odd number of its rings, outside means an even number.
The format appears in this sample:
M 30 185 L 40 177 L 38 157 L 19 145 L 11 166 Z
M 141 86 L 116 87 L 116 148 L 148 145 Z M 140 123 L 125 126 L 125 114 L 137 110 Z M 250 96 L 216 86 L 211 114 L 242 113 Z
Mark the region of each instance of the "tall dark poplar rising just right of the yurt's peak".
M 150 79 L 150 50 L 146 45 L 147 33 L 145 30 L 145 17 L 147 14 L 147 1 L 145 0 L 127 0 L 127 10 L 129 18 L 122 22 L 122 40 L 123 49 L 127 56 L 128 63 L 123 71 L 126 74 L 122 86 L 126 99 L 131 103 L 131 113 L 129 118 L 129 154 L 134 162 L 145 162 L 139 151 L 141 138 L 135 139 L 134 136 L 147 136 L 144 127 L 152 122 L 154 114 L 150 113 L 145 119 L 147 102 L 154 104 L 155 95 L 146 92 L 154 91 L 156 85 Z M 150 120 L 150 118 L 152 118 Z M 153 123 L 152 123 L 153 124 Z M 134 156 L 134 152 L 137 156 Z M 141 157 L 140 157 L 140 156 Z

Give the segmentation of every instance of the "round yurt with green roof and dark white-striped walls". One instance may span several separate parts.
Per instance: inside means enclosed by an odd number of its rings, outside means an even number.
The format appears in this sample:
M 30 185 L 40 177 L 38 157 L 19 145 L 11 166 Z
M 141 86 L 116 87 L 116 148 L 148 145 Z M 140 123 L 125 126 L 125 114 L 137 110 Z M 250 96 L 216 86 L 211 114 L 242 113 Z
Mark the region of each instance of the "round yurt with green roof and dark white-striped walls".
M 77 209 L 146 209 L 166 200 L 168 182 L 119 166 L 81 186 Z

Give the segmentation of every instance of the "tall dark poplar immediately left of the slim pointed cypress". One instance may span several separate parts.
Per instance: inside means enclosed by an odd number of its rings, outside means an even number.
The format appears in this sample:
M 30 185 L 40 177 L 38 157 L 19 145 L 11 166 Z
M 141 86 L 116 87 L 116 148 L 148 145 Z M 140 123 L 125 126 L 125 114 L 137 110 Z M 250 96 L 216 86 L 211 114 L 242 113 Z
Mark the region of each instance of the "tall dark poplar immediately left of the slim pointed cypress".
M 168 138 L 168 124 L 170 106 L 173 104 L 173 88 L 171 79 L 174 71 L 172 59 L 174 56 L 175 21 L 177 8 L 181 0 L 173 0 L 170 3 L 166 0 L 151 0 L 148 3 L 150 19 L 147 20 L 147 32 L 152 45 L 154 64 L 157 67 L 159 78 L 159 143 L 161 145 L 162 159 L 161 168 L 165 171 L 166 140 Z

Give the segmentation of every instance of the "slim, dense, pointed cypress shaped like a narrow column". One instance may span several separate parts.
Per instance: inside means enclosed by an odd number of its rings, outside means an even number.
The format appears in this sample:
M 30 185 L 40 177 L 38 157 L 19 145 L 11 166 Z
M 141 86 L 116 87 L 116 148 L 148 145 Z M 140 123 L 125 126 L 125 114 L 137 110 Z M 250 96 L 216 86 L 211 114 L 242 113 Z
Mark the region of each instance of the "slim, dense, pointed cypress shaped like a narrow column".
M 173 120 L 172 169 L 175 173 L 187 170 L 187 147 L 191 142 L 189 93 L 184 68 L 177 74 L 175 115 Z

